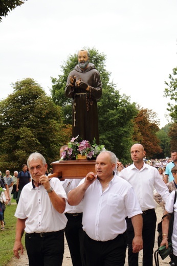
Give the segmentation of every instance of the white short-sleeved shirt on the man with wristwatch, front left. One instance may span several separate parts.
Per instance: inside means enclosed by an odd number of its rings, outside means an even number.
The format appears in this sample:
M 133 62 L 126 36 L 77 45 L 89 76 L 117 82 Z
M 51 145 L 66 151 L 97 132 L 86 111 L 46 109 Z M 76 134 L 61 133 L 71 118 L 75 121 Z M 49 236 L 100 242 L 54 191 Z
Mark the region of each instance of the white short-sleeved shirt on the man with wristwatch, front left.
M 52 178 L 50 185 L 57 195 L 67 201 L 67 195 L 57 178 Z M 53 207 L 46 189 L 42 185 L 33 188 L 32 182 L 28 183 L 21 191 L 15 217 L 27 218 L 25 232 L 29 234 L 56 232 L 64 229 L 67 224 L 64 213 L 57 212 Z

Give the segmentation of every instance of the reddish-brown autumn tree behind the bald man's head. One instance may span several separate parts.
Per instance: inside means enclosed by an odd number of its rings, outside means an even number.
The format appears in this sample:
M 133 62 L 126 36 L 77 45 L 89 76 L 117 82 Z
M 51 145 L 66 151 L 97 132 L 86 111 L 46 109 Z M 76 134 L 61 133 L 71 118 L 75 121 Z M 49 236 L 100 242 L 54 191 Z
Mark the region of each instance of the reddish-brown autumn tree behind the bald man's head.
M 159 131 L 157 114 L 147 108 L 138 106 L 138 115 L 134 122 L 134 142 L 141 143 L 146 151 L 146 156 L 153 158 L 162 152 L 156 132 Z

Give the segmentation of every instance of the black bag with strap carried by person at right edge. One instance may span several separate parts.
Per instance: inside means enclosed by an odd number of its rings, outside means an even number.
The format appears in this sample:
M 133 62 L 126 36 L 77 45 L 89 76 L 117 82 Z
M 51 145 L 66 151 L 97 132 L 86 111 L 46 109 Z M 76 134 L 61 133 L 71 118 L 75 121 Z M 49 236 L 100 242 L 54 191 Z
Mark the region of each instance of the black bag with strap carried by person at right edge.
M 173 202 L 173 206 L 176 202 L 176 192 L 175 191 L 175 195 L 174 195 L 174 202 Z M 162 242 L 162 221 L 166 216 L 171 216 L 170 217 L 170 221 L 169 221 L 169 229 L 168 229 L 168 249 L 166 249 L 166 246 L 162 246 L 161 242 Z M 173 213 L 167 213 L 162 217 L 162 220 L 160 221 L 160 223 L 158 224 L 158 249 L 154 252 L 154 260 L 156 263 L 156 266 L 159 266 L 159 257 L 158 255 L 161 256 L 162 259 L 165 259 L 167 256 L 169 256 L 170 254 L 173 253 L 172 250 L 172 242 L 171 242 L 171 236 L 172 236 L 172 232 L 173 232 L 173 223 L 174 223 L 174 207 L 173 207 Z

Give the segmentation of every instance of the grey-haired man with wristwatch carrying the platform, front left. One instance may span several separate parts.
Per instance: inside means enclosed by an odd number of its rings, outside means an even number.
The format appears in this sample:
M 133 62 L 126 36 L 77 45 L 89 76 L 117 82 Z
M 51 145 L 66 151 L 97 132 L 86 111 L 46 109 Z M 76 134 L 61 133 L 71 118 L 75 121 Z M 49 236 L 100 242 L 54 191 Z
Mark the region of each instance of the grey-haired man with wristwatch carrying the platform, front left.
M 21 237 L 25 235 L 25 245 L 30 266 L 62 265 L 64 253 L 64 232 L 67 218 L 64 215 L 67 195 L 57 178 L 45 175 L 47 163 L 38 152 L 27 161 L 32 182 L 21 192 L 15 216 L 16 237 L 14 255 L 24 252 Z

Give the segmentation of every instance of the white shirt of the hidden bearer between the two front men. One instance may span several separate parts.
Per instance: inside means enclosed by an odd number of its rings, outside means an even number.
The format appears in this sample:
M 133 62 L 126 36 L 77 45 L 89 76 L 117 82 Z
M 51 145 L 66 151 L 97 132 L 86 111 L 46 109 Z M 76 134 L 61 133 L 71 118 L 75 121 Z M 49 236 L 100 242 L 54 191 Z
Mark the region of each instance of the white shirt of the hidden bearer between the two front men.
M 65 179 L 64 181 L 61 181 L 61 184 L 65 190 L 65 192 L 68 195 L 68 192 L 70 190 L 72 190 L 73 188 L 76 188 L 77 185 L 80 183 L 82 179 Z M 71 206 L 68 204 L 68 202 L 66 203 L 66 208 L 64 213 L 80 213 L 82 212 L 82 202 L 79 203 L 79 205 L 77 206 Z

